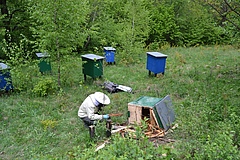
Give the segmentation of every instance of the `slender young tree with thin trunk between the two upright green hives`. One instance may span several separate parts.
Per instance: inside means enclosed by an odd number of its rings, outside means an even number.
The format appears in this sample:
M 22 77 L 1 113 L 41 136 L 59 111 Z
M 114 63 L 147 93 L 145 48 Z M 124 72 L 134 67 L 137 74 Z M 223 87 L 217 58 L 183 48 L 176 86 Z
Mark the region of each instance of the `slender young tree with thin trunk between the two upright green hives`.
M 61 58 L 84 44 L 87 38 L 85 24 L 89 13 L 87 0 L 30 1 L 32 31 L 36 46 L 58 61 L 58 85 L 61 86 Z

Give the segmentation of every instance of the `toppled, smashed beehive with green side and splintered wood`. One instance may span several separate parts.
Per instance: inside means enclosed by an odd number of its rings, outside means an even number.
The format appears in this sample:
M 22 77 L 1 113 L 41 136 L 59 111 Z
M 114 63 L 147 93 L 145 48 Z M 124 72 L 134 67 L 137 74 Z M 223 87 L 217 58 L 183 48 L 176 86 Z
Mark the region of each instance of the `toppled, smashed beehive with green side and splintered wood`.
M 160 128 L 168 130 L 175 120 L 170 96 L 164 98 L 142 96 L 128 103 L 130 124 L 140 124 L 145 117 Z

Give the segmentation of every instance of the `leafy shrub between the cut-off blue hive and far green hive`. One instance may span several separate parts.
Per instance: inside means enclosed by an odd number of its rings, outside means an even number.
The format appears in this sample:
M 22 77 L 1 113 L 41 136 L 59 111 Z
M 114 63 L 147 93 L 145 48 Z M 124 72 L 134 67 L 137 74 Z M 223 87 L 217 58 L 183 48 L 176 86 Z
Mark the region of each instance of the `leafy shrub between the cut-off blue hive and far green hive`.
M 2 50 L 8 61 L 6 63 L 11 68 L 12 83 L 14 91 L 27 91 L 32 87 L 33 76 L 36 73 L 36 66 L 32 63 L 32 56 L 29 50 L 26 50 L 27 46 L 31 45 L 24 35 L 21 35 L 22 39 L 19 43 L 11 42 L 7 43 L 3 41 Z M 11 37 L 9 37 L 11 39 Z M 24 72 L 23 72 L 24 70 Z M 31 70 L 32 73 L 28 72 Z

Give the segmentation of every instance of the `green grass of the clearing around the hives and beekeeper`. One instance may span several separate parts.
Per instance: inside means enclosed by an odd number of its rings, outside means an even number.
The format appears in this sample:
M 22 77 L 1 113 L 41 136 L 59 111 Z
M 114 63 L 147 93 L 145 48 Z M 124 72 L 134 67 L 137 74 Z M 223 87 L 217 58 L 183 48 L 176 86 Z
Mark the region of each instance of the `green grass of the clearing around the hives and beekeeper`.
M 146 53 L 123 64 L 116 54 L 116 65 L 104 64 L 104 76 L 84 82 L 80 56 L 66 57 L 62 63 L 62 90 L 45 97 L 31 90 L 46 77 L 57 82 L 57 65 L 52 75 L 40 75 L 36 63 L 22 72 L 12 73 L 13 85 L 24 92 L 0 97 L 1 159 L 71 159 L 87 154 L 89 148 L 105 139 L 104 124 L 97 138 L 77 117 L 78 107 L 95 91 L 109 95 L 111 105 L 105 113 L 125 113 L 113 117 L 115 123 L 127 121 L 127 104 L 140 96 L 170 95 L 178 128 L 170 133 L 175 159 L 239 158 L 240 55 L 231 46 L 167 48 L 165 75 L 148 76 Z M 18 79 L 17 79 L 18 77 Z M 20 77 L 20 78 L 19 78 Z M 109 80 L 129 86 L 134 94 L 109 94 L 99 86 Z M 54 89 L 54 88 L 53 88 Z M 104 150 L 104 149 L 103 149 Z M 110 154 L 110 153 L 108 153 Z

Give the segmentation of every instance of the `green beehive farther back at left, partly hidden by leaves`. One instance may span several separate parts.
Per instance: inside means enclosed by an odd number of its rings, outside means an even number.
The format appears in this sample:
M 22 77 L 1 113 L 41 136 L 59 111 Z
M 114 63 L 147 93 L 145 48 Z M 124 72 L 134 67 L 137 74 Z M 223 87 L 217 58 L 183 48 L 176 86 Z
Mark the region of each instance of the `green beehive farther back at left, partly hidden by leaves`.
M 48 55 L 47 53 L 36 53 L 38 59 L 39 59 L 39 71 L 41 73 L 45 73 L 45 72 L 51 72 L 52 71 L 52 67 L 51 67 L 51 63 L 49 60 L 50 55 Z

